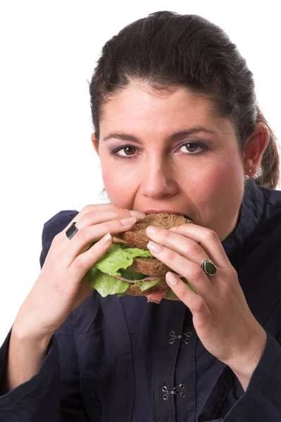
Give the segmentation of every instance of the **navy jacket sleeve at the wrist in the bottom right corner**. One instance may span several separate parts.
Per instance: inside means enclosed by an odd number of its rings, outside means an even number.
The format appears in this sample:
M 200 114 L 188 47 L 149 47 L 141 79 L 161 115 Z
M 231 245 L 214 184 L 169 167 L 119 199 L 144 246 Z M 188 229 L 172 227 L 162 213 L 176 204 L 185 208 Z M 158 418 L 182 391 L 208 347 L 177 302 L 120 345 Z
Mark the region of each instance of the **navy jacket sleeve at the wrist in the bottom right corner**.
M 244 394 L 223 418 L 208 418 L 203 412 L 197 422 L 281 421 L 280 385 L 281 347 L 277 340 L 267 333 L 265 350 Z M 213 399 L 216 400 L 214 397 Z

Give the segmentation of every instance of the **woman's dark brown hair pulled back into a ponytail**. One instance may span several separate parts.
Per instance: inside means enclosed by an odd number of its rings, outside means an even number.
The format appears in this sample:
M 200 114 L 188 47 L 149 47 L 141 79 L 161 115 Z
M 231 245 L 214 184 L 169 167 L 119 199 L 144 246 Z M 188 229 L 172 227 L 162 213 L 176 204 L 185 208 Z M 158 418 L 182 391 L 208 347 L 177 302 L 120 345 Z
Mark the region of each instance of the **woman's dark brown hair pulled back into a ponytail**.
M 232 120 L 242 154 L 256 123 L 265 123 L 269 143 L 254 181 L 276 188 L 280 175 L 277 139 L 258 107 L 246 60 L 220 27 L 198 15 L 159 11 L 109 39 L 89 84 L 97 141 L 107 101 L 134 80 L 159 94 L 187 87 L 211 98 L 216 113 Z

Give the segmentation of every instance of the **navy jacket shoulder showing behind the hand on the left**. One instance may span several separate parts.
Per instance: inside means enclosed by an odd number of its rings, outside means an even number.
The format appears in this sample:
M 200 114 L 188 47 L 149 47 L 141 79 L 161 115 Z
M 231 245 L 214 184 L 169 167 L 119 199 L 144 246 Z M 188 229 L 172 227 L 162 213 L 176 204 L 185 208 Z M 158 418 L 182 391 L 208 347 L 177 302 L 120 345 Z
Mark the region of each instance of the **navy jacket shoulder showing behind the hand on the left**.
M 71 220 L 78 214 L 76 210 L 63 210 L 51 217 L 44 223 L 42 231 L 42 252 L 40 255 L 40 265 L 43 267 L 46 255 L 51 247 L 51 243 L 56 236 L 65 229 Z

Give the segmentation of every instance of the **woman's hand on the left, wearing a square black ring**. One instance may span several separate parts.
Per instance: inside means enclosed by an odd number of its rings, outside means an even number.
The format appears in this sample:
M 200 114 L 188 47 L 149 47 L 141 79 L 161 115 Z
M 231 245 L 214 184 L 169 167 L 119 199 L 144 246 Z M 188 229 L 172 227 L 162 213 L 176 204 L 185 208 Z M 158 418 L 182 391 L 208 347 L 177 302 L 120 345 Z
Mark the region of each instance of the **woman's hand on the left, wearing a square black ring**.
M 13 324 L 20 338 L 51 338 L 70 312 L 92 292 L 81 283 L 88 269 L 104 255 L 112 243 L 108 234 L 132 229 L 144 217 L 114 204 L 87 205 L 58 233 L 49 249 L 35 285 L 21 305 Z M 137 218 L 135 218 L 137 217 Z M 71 240 L 65 231 L 76 222 Z M 89 246 L 96 241 L 91 248 Z

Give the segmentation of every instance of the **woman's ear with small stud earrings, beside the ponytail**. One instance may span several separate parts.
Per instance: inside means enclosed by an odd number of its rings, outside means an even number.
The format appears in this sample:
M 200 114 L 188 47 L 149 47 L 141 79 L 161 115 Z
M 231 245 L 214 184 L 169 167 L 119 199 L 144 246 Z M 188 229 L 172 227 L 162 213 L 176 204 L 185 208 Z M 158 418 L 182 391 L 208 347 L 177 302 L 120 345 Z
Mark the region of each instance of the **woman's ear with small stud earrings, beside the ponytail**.
M 244 148 L 244 170 L 245 174 L 249 174 L 249 170 L 254 170 L 251 177 L 258 171 L 258 166 L 261 164 L 263 152 L 266 150 L 269 141 L 269 130 L 265 123 L 257 123 L 256 129 L 249 136 Z

